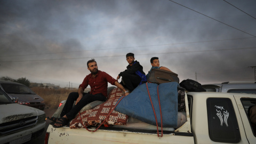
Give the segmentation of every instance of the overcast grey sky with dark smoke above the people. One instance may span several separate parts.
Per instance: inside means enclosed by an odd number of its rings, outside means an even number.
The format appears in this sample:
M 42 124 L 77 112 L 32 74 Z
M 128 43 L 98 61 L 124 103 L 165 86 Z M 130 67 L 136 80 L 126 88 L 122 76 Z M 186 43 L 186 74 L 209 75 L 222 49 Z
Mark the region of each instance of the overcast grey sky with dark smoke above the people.
M 0 77 L 78 87 L 91 58 L 116 78 L 132 52 L 146 74 L 159 57 L 180 82 L 254 81 L 255 7 L 254 0 L 2 0 Z

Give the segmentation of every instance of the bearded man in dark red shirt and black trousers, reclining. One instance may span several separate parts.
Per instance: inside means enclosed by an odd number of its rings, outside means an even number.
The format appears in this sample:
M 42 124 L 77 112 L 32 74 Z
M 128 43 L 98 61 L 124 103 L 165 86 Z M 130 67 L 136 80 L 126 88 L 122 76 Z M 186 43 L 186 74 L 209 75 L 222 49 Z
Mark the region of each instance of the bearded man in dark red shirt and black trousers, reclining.
M 129 94 L 116 79 L 104 71 L 98 70 L 97 62 L 94 59 L 87 62 L 87 69 L 91 71 L 91 74 L 84 78 L 83 83 L 79 85 L 78 92 L 71 92 L 68 95 L 66 104 L 60 114 L 61 118 L 49 118 L 51 121 L 55 121 L 53 127 L 62 127 L 66 125 L 70 119 L 75 117 L 79 110 L 92 101 L 106 101 L 108 82 L 123 90 L 125 95 Z M 91 92 L 84 93 L 84 89 L 88 85 L 91 87 Z M 76 101 L 76 105 L 73 107 L 74 101 Z

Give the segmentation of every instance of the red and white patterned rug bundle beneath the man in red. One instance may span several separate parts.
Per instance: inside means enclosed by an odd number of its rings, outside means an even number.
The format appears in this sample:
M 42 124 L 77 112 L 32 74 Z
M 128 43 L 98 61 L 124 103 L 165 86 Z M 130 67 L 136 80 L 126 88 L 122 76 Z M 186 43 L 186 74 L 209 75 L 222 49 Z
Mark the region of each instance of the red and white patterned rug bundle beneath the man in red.
M 121 98 L 123 95 L 124 92 L 119 88 L 111 90 L 107 101 L 93 109 L 85 110 L 81 113 L 81 119 L 83 124 L 81 123 L 80 115 L 78 114 L 70 122 L 70 129 L 79 129 L 83 128 L 84 126 L 95 126 L 97 124 L 101 124 L 104 121 L 104 119 L 107 118 L 109 111 L 111 111 L 115 107 L 117 100 Z M 127 119 L 127 115 L 113 110 L 110 116 L 106 119 L 106 121 L 103 124 L 126 125 Z

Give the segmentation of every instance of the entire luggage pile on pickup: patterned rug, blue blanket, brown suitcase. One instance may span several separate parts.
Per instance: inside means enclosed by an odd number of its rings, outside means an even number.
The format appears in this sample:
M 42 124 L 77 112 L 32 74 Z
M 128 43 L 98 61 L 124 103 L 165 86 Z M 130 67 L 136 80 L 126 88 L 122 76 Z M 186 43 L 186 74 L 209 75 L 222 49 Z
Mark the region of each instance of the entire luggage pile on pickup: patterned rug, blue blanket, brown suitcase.
M 175 73 L 152 69 L 148 83 L 139 85 L 126 97 L 122 95 L 124 93 L 118 88 L 111 90 L 106 102 L 81 111 L 70 122 L 70 128 L 86 128 L 101 123 L 105 126 L 126 125 L 128 116 L 153 126 L 177 127 L 186 122 L 185 89 L 179 86 Z

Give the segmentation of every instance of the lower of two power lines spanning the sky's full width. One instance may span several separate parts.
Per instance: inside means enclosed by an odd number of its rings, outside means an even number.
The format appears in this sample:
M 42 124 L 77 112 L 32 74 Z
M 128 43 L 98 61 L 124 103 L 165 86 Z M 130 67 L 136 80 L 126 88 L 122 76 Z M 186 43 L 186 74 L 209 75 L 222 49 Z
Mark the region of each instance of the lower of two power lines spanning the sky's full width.
M 137 55 L 155 55 L 155 54 L 174 54 L 174 53 L 196 53 L 196 52 L 213 52 L 213 51 L 231 51 L 231 50 L 248 50 L 256 49 L 256 47 L 241 47 L 235 49 L 218 49 L 218 50 L 201 50 L 201 51 L 181 51 L 181 52 L 164 52 L 164 53 L 148 53 Z M 29 61 L 50 61 L 50 60 L 71 60 L 71 59 L 90 59 L 90 58 L 109 58 L 109 57 L 124 57 L 125 55 L 111 55 L 111 56 L 99 56 L 99 57 L 82 57 L 82 58 L 63 58 L 63 59 L 44 59 L 44 60 L 17 60 L 17 61 L 0 61 L 0 62 L 29 62 Z

